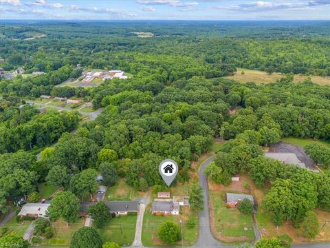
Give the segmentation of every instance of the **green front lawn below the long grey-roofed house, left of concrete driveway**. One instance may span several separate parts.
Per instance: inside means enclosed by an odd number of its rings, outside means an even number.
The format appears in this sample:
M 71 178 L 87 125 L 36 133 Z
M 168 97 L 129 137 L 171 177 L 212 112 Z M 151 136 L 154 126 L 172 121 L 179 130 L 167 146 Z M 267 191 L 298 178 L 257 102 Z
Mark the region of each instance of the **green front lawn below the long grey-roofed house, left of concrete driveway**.
M 98 233 L 103 242 L 117 242 L 119 245 L 131 245 L 135 236 L 137 216 L 118 216 L 100 224 Z

